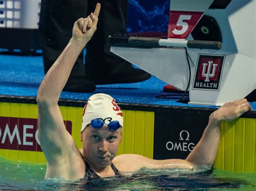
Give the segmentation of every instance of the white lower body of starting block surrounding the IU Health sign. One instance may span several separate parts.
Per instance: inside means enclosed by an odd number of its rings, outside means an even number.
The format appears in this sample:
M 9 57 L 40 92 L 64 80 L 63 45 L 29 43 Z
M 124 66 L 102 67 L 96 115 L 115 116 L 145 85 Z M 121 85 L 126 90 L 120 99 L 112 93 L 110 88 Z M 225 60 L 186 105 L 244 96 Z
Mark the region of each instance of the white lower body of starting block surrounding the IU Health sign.
M 131 48 L 111 47 L 111 52 L 134 63 L 146 72 L 166 83 L 186 90 L 189 72 L 184 48 Z M 219 70 L 218 88 L 207 90 L 203 82 L 195 88 L 196 71 L 200 55 L 223 56 L 223 65 Z M 225 102 L 237 100 L 255 89 L 255 60 L 241 54 L 211 49 L 188 49 L 191 67 L 190 104 L 220 106 Z M 241 67 L 243 65 L 244 67 Z M 250 68 L 250 69 L 248 69 Z M 211 86 L 207 84 L 205 86 Z

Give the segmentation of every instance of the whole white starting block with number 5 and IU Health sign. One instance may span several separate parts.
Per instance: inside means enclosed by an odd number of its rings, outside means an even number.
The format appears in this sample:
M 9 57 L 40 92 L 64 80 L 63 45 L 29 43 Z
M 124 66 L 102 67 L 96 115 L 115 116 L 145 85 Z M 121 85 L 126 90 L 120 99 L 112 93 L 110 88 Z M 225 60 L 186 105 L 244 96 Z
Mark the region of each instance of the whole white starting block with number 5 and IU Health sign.
M 110 36 L 111 52 L 179 90 L 223 105 L 256 89 L 256 0 L 172 0 L 166 38 Z

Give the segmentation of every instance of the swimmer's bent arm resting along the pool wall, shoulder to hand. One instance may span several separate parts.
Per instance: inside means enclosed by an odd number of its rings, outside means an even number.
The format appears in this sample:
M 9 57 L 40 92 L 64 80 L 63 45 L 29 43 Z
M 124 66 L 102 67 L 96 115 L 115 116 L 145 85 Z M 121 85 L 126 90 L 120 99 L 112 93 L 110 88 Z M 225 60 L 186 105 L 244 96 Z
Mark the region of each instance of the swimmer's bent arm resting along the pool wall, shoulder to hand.
M 153 160 L 138 154 L 122 154 L 114 158 L 113 163 L 124 172 L 138 171 L 146 168 L 193 168 L 194 165 L 212 166 L 217 154 L 220 139 L 220 123 L 232 121 L 244 112 L 252 109 L 246 99 L 225 103 L 214 111 L 210 117 L 203 136 L 186 160 Z

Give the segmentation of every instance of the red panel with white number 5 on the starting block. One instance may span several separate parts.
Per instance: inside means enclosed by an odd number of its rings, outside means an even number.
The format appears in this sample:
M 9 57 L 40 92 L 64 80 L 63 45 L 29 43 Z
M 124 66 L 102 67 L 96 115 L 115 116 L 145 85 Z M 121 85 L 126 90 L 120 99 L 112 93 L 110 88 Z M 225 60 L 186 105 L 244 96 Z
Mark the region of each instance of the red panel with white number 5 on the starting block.
M 186 39 L 204 12 L 170 11 L 168 38 Z

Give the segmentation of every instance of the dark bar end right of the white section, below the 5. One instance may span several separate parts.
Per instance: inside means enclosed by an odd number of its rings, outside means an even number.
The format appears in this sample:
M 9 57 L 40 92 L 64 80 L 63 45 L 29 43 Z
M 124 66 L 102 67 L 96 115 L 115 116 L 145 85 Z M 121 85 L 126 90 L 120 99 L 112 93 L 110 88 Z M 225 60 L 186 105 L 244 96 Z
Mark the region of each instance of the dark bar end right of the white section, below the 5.
M 220 49 L 222 47 L 222 43 L 219 41 L 188 40 L 187 47 L 199 49 Z

